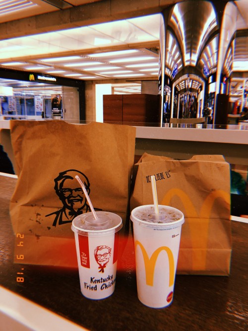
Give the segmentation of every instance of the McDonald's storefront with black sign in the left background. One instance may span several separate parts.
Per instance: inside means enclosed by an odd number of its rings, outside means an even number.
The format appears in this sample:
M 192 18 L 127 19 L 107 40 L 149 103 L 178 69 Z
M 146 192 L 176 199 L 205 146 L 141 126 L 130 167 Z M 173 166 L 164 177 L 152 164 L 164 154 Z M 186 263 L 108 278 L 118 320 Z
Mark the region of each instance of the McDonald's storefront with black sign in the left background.
M 85 120 L 84 81 L 0 71 L 0 119 Z

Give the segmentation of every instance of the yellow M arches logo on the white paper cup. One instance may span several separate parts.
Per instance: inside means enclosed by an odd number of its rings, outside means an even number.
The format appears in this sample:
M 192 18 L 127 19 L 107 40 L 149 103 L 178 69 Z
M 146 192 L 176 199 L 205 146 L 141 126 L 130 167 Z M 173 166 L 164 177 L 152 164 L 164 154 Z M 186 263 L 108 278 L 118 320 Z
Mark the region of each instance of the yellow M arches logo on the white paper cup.
M 134 246 L 135 246 L 135 251 L 137 246 L 139 246 L 141 249 L 145 264 L 146 285 L 150 285 L 150 286 L 153 286 L 153 278 L 154 278 L 154 271 L 155 271 L 157 258 L 163 250 L 167 252 L 169 259 L 169 286 L 172 286 L 174 284 L 175 263 L 171 249 L 166 246 L 159 247 L 152 253 L 151 257 L 149 258 L 144 246 L 138 240 L 135 241 Z

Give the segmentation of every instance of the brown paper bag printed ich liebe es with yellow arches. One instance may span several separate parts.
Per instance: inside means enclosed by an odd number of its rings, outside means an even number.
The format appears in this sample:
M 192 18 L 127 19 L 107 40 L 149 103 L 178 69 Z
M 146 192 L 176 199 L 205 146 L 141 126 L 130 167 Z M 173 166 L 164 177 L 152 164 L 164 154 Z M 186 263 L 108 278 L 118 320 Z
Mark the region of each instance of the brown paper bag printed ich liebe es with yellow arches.
M 231 260 L 230 168 L 222 156 L 190 160 L 143 154 L 135 165 L 131 210 L 152 204 L 151 175 L 158 203 L 185 215 L 177 273 L 228 275 Z

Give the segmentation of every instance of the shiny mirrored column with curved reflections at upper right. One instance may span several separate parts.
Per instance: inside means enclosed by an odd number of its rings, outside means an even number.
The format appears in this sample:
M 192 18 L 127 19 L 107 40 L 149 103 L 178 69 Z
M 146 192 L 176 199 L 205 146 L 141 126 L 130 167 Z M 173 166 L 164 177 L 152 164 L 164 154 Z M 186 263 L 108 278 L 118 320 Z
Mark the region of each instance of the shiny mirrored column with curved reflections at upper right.
M 205 117 L 206 124 L 227 125 L 244 118 L 248 106 L 245 8 L 246 0 L 189 0 L 164 10 L 165 63 L 160 62 L 164 79 L 159 79 L 164 82 L 159 86 L 163 124 L 172 118 Z

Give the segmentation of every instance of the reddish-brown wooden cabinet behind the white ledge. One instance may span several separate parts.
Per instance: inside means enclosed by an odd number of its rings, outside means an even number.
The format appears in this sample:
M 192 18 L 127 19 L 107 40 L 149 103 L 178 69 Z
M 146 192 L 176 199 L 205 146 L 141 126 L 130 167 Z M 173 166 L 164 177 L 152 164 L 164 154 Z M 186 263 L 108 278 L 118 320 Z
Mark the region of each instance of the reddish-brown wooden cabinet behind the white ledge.
M 103 96 L 103 121 L 136 126 L 160 126 L 160 95 L 110 94 Z

